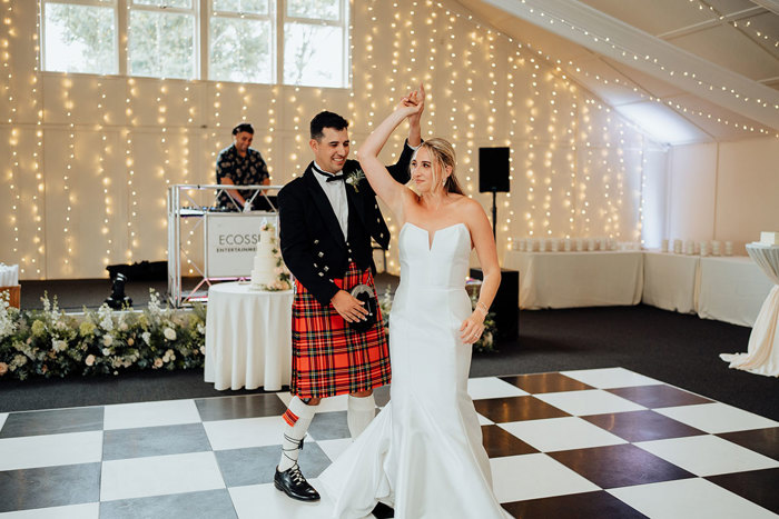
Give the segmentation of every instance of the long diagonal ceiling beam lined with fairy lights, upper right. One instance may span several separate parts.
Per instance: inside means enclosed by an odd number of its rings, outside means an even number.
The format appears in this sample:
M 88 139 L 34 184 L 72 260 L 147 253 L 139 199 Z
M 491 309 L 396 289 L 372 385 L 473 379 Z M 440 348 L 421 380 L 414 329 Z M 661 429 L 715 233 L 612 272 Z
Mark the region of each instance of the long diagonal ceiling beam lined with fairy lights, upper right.
M 578 0 L 485 1 L 593 52 L 779 130 L 779 91 L 699 58 Z M 777 3 L 777 0 L 770 1 Z

